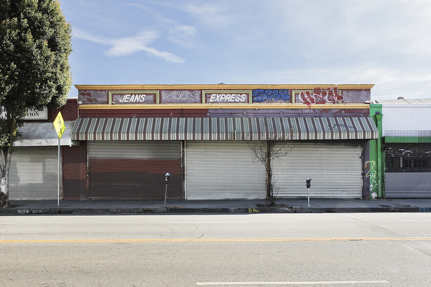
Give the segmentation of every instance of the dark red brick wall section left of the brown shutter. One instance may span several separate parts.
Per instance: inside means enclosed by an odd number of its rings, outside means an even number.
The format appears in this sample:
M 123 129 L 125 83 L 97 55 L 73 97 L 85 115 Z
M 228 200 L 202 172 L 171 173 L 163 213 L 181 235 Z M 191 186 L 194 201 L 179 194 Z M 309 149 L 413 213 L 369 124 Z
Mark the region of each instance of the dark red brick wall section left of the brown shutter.
M 63 113 L 62 113 L 63 114 Z M 63 199 L 82 200 L 86 195 L 86 144 L 62 147 Z

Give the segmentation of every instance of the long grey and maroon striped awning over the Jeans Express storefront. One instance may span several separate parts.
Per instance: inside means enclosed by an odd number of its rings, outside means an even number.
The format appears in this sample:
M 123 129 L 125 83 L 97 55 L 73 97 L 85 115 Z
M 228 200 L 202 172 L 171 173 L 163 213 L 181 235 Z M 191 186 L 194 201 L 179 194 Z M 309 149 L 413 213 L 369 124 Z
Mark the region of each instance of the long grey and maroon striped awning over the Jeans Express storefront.
M 377 139 L 371 118 L 80 118 L 74 141 Z

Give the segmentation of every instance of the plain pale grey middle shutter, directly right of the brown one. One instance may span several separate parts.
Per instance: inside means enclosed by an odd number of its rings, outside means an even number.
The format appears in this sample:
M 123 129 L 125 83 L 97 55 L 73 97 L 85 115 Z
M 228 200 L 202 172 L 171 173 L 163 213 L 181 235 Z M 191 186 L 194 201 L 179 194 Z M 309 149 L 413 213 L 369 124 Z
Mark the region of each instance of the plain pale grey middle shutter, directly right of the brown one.
M 262 199 L 265 167 L 246 142 L 186 142 L 187 199 Z

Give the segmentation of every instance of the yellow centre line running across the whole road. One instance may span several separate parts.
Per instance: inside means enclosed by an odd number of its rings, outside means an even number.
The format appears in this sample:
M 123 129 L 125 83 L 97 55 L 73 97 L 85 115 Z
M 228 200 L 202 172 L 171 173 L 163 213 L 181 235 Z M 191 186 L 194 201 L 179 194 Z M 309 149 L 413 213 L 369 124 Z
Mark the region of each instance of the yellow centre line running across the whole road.
M 431 237 L 352 237 L 352 238 L 232 238 L 232 239 L 58 239 L 0 240 L 0 243 L 115 243 L 115 242 L 292 242 L 292 241 L 397 241 L 431 240 Z

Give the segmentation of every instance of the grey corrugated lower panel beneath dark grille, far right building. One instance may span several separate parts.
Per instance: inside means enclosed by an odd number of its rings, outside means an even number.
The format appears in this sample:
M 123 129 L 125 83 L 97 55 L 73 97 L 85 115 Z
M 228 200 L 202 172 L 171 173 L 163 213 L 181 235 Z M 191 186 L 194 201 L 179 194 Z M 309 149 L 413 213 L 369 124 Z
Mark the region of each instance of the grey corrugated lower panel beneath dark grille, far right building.
M 431 172 L 387 172 L 386 198 L 431 198 Z

